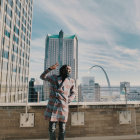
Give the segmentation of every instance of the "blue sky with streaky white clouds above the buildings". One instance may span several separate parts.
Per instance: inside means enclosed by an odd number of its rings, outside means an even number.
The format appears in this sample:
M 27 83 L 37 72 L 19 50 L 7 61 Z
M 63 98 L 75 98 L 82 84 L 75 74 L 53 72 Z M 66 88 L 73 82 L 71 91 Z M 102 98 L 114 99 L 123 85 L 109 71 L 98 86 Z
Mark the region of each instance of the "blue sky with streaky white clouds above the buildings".
M 127 81 L 140 85 L 139 0 L 34 0 L 30 78 L 44 71 L 47 34 L 75 34 L 78 38 L 78 77 L 94 76 L 106 86 Z

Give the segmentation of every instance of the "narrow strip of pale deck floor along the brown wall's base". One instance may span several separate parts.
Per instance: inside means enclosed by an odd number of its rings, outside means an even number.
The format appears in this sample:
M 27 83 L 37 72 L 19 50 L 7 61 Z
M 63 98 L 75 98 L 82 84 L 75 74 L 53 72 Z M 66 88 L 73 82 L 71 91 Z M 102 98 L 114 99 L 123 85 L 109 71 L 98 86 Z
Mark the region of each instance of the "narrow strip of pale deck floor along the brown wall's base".
M 49 140 L 49 139 L 26 139 L 26 140 Z M 65 138 L 65 140 L 140 140 L 140 135 L 75 137 L 75 138 Z

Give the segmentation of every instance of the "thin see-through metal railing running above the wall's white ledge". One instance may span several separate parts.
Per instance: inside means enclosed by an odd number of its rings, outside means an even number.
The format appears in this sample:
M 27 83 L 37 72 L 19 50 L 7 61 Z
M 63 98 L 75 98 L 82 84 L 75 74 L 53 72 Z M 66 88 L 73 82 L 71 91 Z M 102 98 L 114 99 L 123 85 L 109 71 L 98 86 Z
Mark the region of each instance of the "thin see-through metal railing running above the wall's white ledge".
M 110 91 L 112 95 L 110 95 Z M 1 87 L 0 101 L 1 103 L 41 103 L 48 100 L 45 97 L 49 97 L 49 95 L 44 94 L 43 86 L 23 89 Z M 76 96 L 77 98 L 73 102 L 136 102 L 140 101 L 140 86 L 124 90 L 121 90 L 120 87 L 79 89 Z

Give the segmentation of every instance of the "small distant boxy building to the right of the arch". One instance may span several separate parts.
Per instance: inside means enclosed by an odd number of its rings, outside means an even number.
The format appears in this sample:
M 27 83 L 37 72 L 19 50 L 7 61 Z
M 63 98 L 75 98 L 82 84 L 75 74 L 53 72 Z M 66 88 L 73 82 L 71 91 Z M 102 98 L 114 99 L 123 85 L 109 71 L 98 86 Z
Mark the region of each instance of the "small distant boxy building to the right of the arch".
M 124 101 L 130 92 L 130 82 L 120 82 L 120 100 Z

